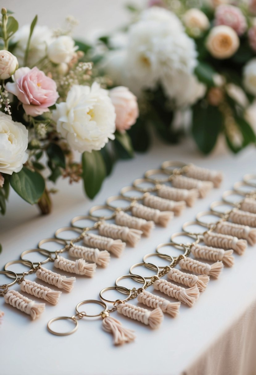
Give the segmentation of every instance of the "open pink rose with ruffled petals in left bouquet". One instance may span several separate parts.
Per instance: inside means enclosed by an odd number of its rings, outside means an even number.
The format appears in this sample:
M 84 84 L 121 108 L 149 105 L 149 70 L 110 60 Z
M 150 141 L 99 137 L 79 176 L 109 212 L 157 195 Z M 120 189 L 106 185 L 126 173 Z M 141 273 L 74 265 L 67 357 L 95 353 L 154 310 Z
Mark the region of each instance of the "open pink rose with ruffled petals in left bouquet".
M 59 98 L 54 80 L 36 67 L 17 69 L 14 80 L 6 84 L 6 90 L 17 96 L 27 115 L 35 117 L 48 112 L 48 107 Z

